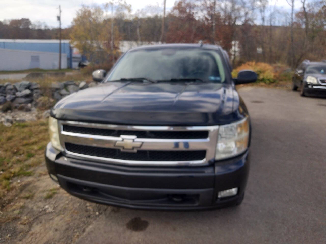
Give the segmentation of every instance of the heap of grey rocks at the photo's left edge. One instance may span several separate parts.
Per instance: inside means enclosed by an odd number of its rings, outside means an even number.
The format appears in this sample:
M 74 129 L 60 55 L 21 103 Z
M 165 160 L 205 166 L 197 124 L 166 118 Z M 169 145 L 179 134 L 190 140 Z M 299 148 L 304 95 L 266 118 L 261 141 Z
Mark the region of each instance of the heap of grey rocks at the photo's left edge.
M 40 86 L 37 83 L 21 81 L 15 84 L 7 82 L 0 84 L 0 105 L 12 102 L 15 108 L 22 104 L 29 104 L 42 96 Z

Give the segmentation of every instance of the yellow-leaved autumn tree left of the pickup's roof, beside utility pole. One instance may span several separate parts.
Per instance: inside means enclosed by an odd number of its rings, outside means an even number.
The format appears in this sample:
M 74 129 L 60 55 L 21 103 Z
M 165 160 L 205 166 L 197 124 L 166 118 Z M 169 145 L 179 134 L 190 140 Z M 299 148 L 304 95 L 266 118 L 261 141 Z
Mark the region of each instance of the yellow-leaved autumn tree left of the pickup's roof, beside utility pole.
M 122 40 L 115 18 L 122 18 L 126 2 L 109 2 L 104 6 L 82 6 L 73 19 L 71 43 L 93 63 L 114 62 Z

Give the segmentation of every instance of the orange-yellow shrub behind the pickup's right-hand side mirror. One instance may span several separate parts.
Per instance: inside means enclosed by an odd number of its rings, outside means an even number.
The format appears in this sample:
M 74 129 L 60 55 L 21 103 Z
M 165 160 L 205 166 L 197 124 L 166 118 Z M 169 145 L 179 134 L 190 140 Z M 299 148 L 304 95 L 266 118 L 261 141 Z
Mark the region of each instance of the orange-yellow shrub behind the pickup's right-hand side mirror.
M 272 65 L 263 62 L 246 62 L 232 71 L 232 76 L 236 77 L 240 70 L 253 70 L 258 75 L 258 82 L 266 84 L 276 82 L 275 72 Z

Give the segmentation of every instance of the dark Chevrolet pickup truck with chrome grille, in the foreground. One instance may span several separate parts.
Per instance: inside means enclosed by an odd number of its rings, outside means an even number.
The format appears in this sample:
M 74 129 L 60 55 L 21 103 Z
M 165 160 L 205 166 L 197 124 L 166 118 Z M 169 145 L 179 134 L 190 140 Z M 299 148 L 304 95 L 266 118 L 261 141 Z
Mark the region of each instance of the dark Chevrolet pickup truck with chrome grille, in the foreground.
M 247 108 L 221 47 L 127 51 L 96 87 L 55 104 L 45 158 L 68 193 L 135 209 L 194 210 L 242 202 L 251 136 Z

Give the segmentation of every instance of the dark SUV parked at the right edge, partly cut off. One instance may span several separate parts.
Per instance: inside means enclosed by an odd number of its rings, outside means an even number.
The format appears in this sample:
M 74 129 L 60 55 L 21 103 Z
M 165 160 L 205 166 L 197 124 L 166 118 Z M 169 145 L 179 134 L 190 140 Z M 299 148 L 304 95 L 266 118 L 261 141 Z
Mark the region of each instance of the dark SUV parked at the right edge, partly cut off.
M 292 77 L 292 90 L 298 88 L 301 96 L 326 96 L 326 61 L 304 60 Z

